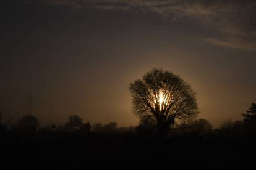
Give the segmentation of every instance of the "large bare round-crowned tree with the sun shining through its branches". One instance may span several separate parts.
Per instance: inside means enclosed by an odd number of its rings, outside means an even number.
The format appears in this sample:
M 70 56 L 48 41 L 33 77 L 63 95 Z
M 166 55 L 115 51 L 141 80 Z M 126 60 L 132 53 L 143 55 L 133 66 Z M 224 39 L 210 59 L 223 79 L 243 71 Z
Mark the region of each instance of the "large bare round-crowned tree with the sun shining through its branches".
M 195 91 L 172 72 L 154 68 L 131 83 L 129 90 L 135 115 L 140 119 L 144 116 L 155 119 L 160 137 L 166 136 L 176 121 L 198 115 Z

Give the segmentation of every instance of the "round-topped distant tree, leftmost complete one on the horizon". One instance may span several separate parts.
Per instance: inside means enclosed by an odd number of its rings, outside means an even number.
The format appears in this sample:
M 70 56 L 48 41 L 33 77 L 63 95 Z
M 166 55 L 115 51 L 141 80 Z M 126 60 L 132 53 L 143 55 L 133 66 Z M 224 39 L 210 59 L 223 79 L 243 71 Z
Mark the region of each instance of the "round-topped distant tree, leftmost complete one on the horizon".
M 17 122 L 17 128 L 23 132 L 36 132 L 39 127 L 39 121 L 32 115 L 23 116 Z

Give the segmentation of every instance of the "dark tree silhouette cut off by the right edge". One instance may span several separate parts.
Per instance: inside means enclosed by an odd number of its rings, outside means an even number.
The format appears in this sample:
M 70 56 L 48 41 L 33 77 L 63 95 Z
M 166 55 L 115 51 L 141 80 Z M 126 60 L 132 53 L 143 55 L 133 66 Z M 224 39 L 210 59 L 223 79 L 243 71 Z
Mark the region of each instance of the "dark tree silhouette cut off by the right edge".
M 246 131 L 256 131 L 256 103 L 252 103 L 249 110 L 242 116 L 244 117 L 244 129 Z

